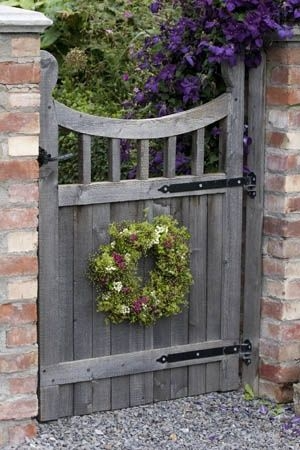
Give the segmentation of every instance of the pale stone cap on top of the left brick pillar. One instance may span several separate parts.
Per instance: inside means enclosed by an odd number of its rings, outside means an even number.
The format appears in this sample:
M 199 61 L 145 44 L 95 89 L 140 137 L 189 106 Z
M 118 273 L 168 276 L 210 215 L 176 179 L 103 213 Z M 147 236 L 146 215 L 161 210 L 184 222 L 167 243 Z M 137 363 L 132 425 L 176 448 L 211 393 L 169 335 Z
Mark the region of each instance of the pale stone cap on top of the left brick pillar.
M 0 5 L 0 33 L 42 33 L 52 23 L 40 12 Z

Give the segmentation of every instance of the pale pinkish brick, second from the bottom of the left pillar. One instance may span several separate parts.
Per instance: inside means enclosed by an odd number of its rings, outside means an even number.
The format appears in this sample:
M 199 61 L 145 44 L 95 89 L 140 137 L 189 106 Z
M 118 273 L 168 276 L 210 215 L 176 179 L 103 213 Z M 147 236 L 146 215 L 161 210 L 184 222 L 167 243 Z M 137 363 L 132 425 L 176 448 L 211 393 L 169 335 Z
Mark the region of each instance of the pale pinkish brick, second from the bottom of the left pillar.
M 0 403 L 0 420 L 29 419 L 37 415 L 37 398 Z

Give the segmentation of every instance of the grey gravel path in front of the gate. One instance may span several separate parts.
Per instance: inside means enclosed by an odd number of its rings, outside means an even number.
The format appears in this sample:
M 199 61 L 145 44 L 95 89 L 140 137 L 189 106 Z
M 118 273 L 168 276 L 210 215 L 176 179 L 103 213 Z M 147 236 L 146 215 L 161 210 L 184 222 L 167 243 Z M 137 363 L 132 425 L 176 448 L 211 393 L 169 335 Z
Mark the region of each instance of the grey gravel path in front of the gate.
M 10 449 L 300 450 L 292 405 L 213 393 L 41 424 L 38 437 Z

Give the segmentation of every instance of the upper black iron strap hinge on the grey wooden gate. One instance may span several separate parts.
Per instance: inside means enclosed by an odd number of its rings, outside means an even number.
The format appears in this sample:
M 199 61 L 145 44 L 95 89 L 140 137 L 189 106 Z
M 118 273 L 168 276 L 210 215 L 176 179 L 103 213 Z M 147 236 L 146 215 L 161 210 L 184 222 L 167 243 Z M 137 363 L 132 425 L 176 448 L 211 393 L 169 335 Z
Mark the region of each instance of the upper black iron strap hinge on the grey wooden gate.
M 163 194 L 167 193 L 179 193 L 188 191 L 204 191 L 207 189 L 221 189 L 221 188 L 233 188 L 244 187 L 245 191 L 251 198 L 256 197 L 256 175 L 254 172 L 250 172 L 244 177 L 237 178 L 223 178 L 219 180 L 207 180 L 207 181 L 192 181 L 190 183 L 178 183 L 178 184 L 165 184 L 158 190 Z

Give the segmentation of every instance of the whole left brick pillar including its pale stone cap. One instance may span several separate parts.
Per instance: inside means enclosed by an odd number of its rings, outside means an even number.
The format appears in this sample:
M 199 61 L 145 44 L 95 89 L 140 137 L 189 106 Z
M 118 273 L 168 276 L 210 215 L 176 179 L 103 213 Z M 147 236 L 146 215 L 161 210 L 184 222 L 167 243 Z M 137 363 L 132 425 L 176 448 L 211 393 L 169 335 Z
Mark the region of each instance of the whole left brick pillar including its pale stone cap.
M 40 13 L 0 6 L 0 447 L 37 415 Z

